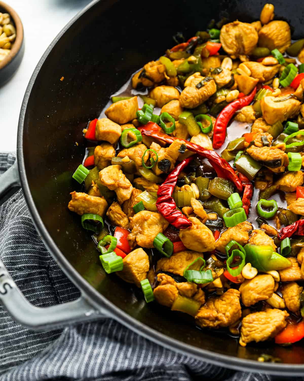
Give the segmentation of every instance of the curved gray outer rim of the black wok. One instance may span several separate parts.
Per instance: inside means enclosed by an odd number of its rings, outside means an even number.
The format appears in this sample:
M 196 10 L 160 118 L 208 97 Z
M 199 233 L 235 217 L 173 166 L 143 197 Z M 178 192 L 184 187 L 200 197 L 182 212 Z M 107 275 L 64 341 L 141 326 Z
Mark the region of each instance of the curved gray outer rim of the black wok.
M 207 361 L 214 365 L 220 367 L 225 367 L 233 370 L 242 370 L 242 371 L 255 371 L 269 373 L 272 375 L 294 375 L 294 376 L 303 376 L 304 375 L 304 364 L 298 365 L 293 363 L 267 363 L 267 362 L 258 362 L 254 360 L 242 359 L 230 355 L 218 354 L 206 349 L 192 346 L 190 344 L 182 343 L 177 339 L 173 339 L 163 333 L 160 333 L 153 328 L 148 327 L 147 325 L 139 322 L 135 318 L 128 315 L 126 312 L 122 311 L 119 307 L 116 307 L 111 303 L 105 296 L 99 293 L 95 288 L 93 288 L 89 282 L 87 282 L 74 267 L 68 262 L 63 253 L 59 250 L 51 235 L 47 231 L 46 227 L 43 224 L 42 219 L 38 213 L 38 210 L 35 206 L 34 200 L 32 198 L 30 187 L 27 181 L 25 174 L 25 163 L 24 163 L 24 154 L 23 154 L 23 127 L 24 119 L 28 106 L 28 99 L 33 88 L 33 84 L 36 80 L 36 77 L 46 61 L 49 53 L 54 48 L 59 39 L 65 34 L 65 32 L 81 18 L 92 6 L 96 3 L 103 0 L 93 0 L 86 7 L 84 7 L 79 13 L 77 13 L 63 29 L 57 34 L 51 44 L 48 46 L 44 54 L 42 55 L 40 61 L 38 62 L 33 74 L 30 78 L 30 81 L 27 85 L 27 89 L 24 94 L 22 101 L 21 111 L 19 115 L 18 123 L 18 134 L 17 134 L 17 160 L 18 160 L 18 170 L 21 179 L 22 189 L 24 191 L 25 201 L 27 203 L 28 210 L 33 219 L 33 223 L 37 231 L 39 232 L 41 239 L 46 245 L 47 249 L 51 253 L 52 257 L 59 264 L 62 271 L 67 275 L 71 282 L 78 287 L 81 292 L 90 300 L 90 302 L 97 306 L 97 309 L 102 310 L 106 309 L 107 312 L 110 312 L 109 317 L 114 318 L 119 323 L 122 323 L 125 327 L 128 327 L 132 331 L 138 333 L 138 335 L 143 336 L 146 339 L 153 341 L 154 343 L 164 346 L 168 349 L 171 349 L 180 354 L 194 357 L 197 360 Z

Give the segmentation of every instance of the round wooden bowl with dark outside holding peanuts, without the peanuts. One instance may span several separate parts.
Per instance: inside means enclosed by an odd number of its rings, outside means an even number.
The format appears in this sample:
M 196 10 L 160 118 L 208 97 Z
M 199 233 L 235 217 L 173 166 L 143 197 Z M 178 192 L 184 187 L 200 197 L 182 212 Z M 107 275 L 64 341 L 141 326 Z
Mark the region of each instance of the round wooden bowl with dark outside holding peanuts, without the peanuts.
M 0 12 L 8 13 L 16 28 L 16 40 L 11 52 L 0 61 L 0 86 L 8 82 L 21 64 L 24 54 L 23 26 L 21 19 L 9 5 L 0 1 Z

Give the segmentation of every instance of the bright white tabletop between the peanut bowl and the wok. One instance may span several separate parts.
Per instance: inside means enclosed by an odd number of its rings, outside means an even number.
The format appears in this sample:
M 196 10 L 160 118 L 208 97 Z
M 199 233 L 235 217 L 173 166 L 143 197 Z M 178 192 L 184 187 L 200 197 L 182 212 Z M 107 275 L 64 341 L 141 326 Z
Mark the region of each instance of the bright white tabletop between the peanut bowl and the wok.
M 16 151 L 17 126 L 28 81 L 47 46 L 90 0 L 4 0 L 21 18 L 25 52 L 16 74 L 0 87 L 0 152 Z

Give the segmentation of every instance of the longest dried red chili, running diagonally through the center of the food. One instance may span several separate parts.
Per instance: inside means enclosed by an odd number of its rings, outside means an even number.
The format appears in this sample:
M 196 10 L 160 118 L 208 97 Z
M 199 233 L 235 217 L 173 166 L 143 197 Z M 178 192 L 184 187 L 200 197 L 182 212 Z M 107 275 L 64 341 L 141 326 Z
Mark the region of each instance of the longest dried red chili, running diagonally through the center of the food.
M 141 131 L 141 133 L 144 135 L 151 136 L 151 138 L 160 139 L 169 144 L 173 143 L 176 139 L 183 141 L 185 146 L 190 151 L 196 152 L 197 154 L 206 157 L 209 160 L 210 164 L 215 169 L 218 177 L 222 177 L 223 179 L 232 181 L 238 191 L 241 192 L 243 190 L 241 181 L 236 176 L 233 168 L 226 162 L 225 159 L 220 157 L 216 152 L 198 146 L 198 144 L 191 143 L 187 140 L 169 136 L 163 132 L 160 126 L 153 122 L 149 122 L 144 126 L 138 127 L 138 130 Z

